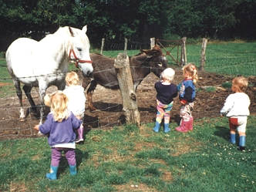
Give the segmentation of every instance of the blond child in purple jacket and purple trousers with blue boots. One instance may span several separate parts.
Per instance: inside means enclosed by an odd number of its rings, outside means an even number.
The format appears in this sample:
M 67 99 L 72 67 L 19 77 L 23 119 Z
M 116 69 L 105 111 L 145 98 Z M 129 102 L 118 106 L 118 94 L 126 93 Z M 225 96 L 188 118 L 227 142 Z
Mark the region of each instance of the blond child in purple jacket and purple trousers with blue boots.
M 70 174 L 76 175 L 76 133 L 74 130 L 79 129 L 82 122 L 78 119 L 79 116 L 74 116 L 67 109 L 69 98 L 62 91 L 46 95 L 45 104 L 51 106 L 51 112 L 48 114 L 45 123 L 35 125 L 34 129 L 49 135 L 48 143 L 52 148 L 52 160 L 46 177 L 49 180 L 57 179 L 62 151 L 64 151 L 66 160 L 69 163 Z

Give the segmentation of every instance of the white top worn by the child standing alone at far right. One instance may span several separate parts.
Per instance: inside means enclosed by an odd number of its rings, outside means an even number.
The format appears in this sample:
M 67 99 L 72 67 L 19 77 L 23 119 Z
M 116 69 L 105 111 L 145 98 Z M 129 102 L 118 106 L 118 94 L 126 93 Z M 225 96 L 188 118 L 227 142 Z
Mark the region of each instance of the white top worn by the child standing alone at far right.
M 225 116 L 249 116 L 250 98 L 245 93 L 233 93 L 227 96 L 221 109 L 221 115 Z

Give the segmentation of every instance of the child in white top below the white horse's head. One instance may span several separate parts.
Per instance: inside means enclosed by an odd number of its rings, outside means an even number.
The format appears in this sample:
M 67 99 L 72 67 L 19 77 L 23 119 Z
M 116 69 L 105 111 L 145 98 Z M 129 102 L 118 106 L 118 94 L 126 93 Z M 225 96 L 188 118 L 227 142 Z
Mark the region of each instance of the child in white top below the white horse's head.
M 84 112 L 86 107 L 86 96 L 84 94 L 83 86 L 79 86 L 79 76 L 76 72 L 68 72 L 66 74 L 66 88 L 63 90 L 63 93 L 66 94 L 69 98 L 69 111 L 72 111 L 75 116 L 80 116 L 82 124 L 77 130 L 78 138 L 76 143 L 83 142 L 83 120 Z

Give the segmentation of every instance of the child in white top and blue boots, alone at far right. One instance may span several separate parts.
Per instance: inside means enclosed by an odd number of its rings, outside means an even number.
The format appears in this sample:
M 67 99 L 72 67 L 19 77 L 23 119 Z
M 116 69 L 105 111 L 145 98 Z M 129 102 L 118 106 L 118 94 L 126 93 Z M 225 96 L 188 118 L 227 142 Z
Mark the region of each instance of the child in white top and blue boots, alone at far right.
M 245 132 L 248 116 L 250 115 L 250 98 L 244 91 L 248 87 L 248 80 L 244 77 L 236 77 L 232 81 L 233 94 L 227 96 L 226 102 L 221 109 L 221 116 L 229 118 L 231 143 L 236 143 L 236 129 L 239 134 L 239 150 L 245 150 Z

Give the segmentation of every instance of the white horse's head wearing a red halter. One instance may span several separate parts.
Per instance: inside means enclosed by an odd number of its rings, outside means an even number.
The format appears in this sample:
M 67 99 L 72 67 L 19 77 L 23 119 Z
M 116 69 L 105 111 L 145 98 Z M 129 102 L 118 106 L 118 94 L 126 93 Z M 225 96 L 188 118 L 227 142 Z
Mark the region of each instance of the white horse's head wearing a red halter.
M 93 74 L 92 60 L 89 57 L 89 39 L 86 35 L 87 25 L 82 30 L 69 27 L 71 34 L 69 59 L 75 62 L 77 68 L 81 69 L 83 76 Z

